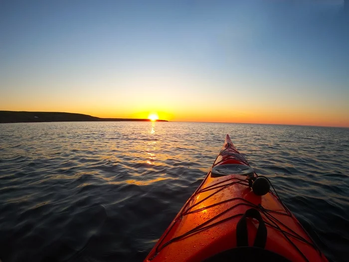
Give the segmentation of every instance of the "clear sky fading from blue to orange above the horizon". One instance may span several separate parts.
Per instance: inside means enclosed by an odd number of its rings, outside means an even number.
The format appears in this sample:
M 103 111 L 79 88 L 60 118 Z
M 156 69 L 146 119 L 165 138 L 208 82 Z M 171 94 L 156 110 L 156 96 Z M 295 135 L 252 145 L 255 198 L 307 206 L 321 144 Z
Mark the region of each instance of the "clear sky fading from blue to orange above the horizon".
M 0 0 L 0 110 L 349 127 L 349 2 Z

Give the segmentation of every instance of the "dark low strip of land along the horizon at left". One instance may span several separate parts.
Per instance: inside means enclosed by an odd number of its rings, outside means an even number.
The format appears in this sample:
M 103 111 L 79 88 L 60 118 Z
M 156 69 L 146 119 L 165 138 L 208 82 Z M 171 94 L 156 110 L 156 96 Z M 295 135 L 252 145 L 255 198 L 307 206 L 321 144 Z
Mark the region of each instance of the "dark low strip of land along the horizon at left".
M 0 123 L 80 122 L 80 121 L 151 121 L 140 118 L 100 118 L 84 114 L 62 112 L 0 111 Z M 156 120 L 168 122 L 166 120 Z

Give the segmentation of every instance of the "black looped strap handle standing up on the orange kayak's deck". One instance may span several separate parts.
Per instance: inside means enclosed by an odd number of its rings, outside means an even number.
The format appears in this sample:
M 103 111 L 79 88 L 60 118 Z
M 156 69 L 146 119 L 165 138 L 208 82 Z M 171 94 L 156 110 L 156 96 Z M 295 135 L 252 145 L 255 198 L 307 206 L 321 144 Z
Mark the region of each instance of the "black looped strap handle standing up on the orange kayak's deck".
M 248 234 L 247 234 L 247 222 L 246 218 L 254 218 L 258 220 L 259 226 L 256 234 L 256 239 L 254 240 L 254 247 L 264 249 L 267 242 L 268 231 L 265 223 L 262 219 L 261 214 L 258 210 L 251 208 L 246 210 L 245 214 L 239 220 L 236 225 L 236 244 L 238 247 L 247 247 L 248 246 Z

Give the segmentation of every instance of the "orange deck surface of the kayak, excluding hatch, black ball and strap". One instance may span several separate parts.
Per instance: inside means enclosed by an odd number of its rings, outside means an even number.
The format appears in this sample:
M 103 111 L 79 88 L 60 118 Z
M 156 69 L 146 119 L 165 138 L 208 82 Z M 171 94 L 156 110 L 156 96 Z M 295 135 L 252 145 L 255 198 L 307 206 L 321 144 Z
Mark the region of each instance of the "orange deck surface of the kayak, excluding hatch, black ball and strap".
M 249 166 L 229 135 L 213 167 L 237 164 Z M 211 169 L 212 170 L 212 169 Z M 327 261 L 301 224 L 271 191 L 257 196 L 249 177 L 229 174 L 204 181 L 179 211 L 145 261 L 204 261 L 237 247 L 237 224 L 247 210 L 259 211 L 267 228 L 264 249 L 289 261 Z M 248 220 L 248 246 L 258 232 L 258 221 Z

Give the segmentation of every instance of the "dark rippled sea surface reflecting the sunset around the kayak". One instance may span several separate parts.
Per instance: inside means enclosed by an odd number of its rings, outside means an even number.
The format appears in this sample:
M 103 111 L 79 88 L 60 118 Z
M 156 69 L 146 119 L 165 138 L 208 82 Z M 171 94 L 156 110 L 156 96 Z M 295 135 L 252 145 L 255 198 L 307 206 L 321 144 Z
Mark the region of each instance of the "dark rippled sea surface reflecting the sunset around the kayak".
M 0 124 L 2 262 L 142 261 L 229 134 L 331 261 L 349 261 L 349 129 Z

